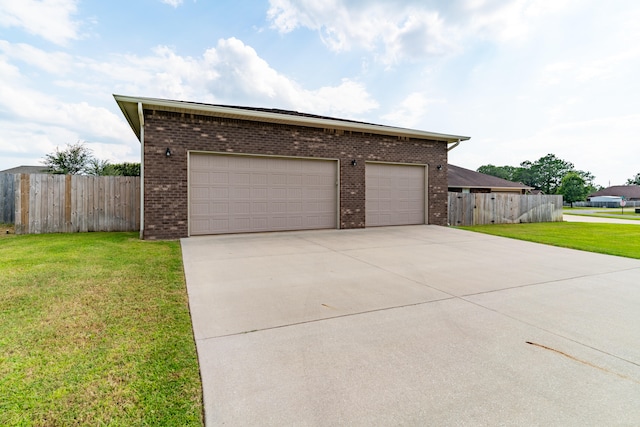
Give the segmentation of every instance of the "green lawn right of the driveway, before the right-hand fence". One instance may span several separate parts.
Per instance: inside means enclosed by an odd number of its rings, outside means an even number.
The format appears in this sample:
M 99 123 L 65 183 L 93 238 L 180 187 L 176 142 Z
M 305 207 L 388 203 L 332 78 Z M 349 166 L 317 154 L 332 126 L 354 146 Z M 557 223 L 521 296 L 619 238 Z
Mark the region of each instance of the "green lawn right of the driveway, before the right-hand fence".
M 459 228 L 565 248 L 640 259 L 640 225 L 543 222 Z

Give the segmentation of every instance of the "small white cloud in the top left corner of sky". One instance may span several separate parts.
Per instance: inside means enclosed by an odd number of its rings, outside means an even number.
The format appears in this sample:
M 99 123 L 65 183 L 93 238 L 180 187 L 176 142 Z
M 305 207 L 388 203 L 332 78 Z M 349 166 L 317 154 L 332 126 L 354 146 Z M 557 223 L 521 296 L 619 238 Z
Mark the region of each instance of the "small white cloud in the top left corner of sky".
M 78 38 L 78 0 L 0 0 L 0 27 L 18 27 L 59 45 Z

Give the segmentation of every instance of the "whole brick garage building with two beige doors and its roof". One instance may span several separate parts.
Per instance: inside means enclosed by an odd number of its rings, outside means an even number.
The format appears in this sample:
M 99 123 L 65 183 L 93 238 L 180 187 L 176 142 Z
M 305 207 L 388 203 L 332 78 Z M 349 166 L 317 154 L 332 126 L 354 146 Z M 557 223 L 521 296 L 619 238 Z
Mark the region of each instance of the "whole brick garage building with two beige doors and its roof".
M 142 148 L 141 237 L 447 224 L 468 137 L 114 95 Z

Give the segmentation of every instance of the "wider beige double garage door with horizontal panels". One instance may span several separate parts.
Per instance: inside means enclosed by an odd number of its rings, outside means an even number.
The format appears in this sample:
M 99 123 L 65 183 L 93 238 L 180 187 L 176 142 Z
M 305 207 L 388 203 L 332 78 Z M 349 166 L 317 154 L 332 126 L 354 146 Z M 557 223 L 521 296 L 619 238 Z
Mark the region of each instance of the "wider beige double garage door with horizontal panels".
M 336 228 L 337 162 L 191 153 L 192 235 Z

